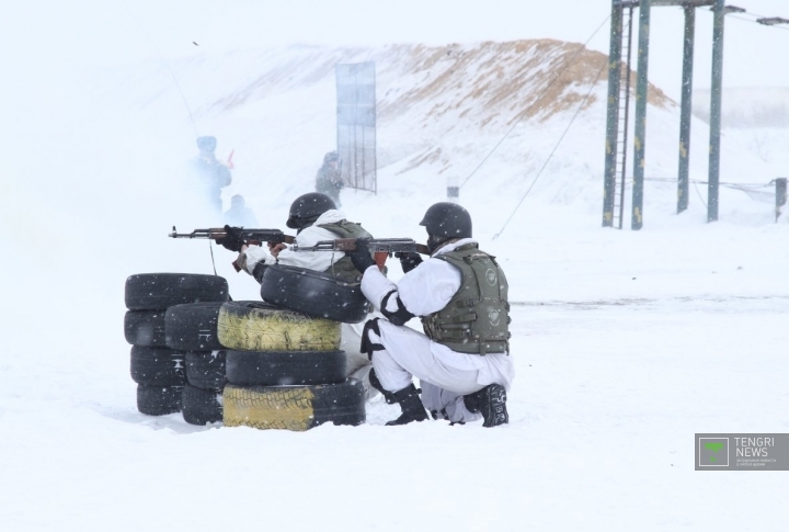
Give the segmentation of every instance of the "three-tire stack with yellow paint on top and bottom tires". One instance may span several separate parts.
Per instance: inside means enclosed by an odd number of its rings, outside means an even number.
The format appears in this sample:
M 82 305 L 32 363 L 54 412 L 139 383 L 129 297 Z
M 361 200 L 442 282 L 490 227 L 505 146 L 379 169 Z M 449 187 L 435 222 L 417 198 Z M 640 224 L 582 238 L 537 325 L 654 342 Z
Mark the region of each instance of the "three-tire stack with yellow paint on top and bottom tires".
M 302 431 L 365 421 L 362 385 L 345 381 L 339 321 L 265 302 L 231 302 L 219 310 L 217 333 L 228 348 L 226 426 Z

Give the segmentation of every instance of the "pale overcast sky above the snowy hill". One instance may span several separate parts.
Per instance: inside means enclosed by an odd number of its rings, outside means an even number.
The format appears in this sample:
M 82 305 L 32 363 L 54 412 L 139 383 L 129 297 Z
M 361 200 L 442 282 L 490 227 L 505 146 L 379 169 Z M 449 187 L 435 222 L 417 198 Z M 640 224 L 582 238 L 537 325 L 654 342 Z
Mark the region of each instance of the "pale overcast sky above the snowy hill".
M 761 15 L 789 18 L 786 0 L 734 2 Z M 2 0 L 2 5 L 0 60 L 5 73 L 30 80 L 16 87 L 23 91 L 46 83 L 49 76 L 42 71 L 60 77 L 85 66 L 239 47 L 540 37 L 585 42 L 610 12 L 610 0 Z M 699 9 L 697 88 L 710 84 L 711 27 L 712 14 Z M 608 31 L 606 23 L 590 47 L 607 53 Z M 652 10 L 650 78 L 675 98 L 682 36 L 679 8 Z M 789 87 L 789 69 L 777 68 L 788 52 L 789 26 L 767 27 L 729 16 L 724 84 Z

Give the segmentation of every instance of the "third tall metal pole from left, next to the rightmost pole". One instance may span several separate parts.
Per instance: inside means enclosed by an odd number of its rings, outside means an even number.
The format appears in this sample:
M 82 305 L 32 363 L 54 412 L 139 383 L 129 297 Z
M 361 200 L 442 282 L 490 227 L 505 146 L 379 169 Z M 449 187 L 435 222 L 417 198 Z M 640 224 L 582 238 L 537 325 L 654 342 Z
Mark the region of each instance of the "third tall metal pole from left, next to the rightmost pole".
M 688 206 L 690 192 L 690 118 L 693 116 L 693 63 L 696 39 L 696 8 L 685 7 L 685 48 L 683 52 L 682 111 L 679 117 L 679 173 L 677 214 Z

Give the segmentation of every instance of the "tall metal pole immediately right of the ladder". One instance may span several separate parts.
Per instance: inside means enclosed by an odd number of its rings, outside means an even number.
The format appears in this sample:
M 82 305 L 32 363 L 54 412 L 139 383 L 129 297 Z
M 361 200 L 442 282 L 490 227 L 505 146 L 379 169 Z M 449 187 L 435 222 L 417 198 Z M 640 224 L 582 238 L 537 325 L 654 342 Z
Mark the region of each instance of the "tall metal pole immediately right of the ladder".
M 721 0 L 722 1 L 722 0 Z M 650 0 L 639 3 L 638 82 L 636 83 L 636 138 L 633 139 L 633 196 L 630 227 L 643 227 L 643 178 L 647 143 L 647 98 L 649 93 Z

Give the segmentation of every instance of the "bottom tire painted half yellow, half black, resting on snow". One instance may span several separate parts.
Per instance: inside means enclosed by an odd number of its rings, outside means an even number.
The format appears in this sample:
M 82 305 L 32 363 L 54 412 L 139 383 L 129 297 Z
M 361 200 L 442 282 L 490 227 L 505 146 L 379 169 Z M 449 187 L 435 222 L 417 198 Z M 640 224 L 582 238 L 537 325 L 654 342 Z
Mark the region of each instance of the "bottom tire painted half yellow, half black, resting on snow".
M 362 383 L 322 386 L 250 386 L 232 384 L 222 393 L 227 427 L 309 430 L 319 425 L 361 425 L 365 421 Z

